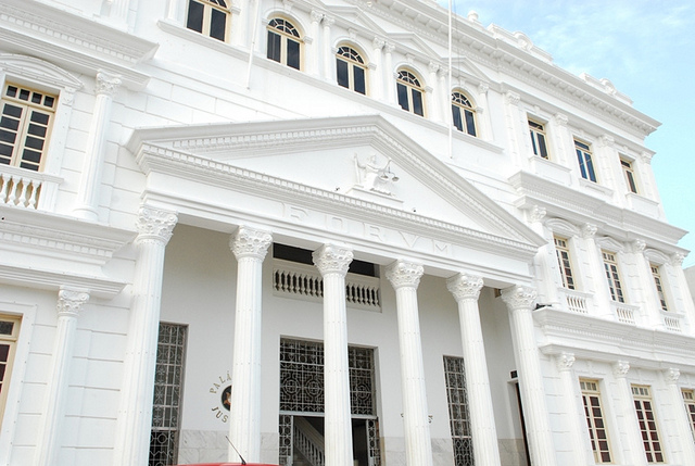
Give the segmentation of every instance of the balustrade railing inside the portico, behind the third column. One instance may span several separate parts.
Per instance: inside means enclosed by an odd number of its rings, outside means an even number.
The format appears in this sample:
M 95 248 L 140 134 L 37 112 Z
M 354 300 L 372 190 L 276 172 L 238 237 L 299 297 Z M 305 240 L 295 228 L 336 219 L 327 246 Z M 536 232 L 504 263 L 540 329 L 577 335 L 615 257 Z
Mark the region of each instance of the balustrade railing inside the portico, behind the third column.
M 308 301 L 324 299 L 324 279 L 316 267 L 288 261 L 273 263 L 273 290 L 278 294 Z M 379 311 L 379 278 L 348 274 L 345 300 L 353 307 Z

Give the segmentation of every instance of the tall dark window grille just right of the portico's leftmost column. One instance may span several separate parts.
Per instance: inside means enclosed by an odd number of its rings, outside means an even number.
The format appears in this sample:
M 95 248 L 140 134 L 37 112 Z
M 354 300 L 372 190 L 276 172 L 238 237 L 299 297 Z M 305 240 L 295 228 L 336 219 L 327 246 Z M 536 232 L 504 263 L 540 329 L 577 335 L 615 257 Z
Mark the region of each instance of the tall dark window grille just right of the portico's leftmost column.
M 149 466 L 177 464 L 188 327 L 160 323 Z

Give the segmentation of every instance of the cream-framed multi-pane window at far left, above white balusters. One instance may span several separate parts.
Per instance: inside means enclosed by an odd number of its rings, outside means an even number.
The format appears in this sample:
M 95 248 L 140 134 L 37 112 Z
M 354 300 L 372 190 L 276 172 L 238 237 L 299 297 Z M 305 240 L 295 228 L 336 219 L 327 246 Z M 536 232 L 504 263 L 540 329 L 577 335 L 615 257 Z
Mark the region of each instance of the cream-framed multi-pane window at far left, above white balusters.
M 0 164 L 38 172 L 46 154 L 58 99 L 5 85 L 0 117 Z

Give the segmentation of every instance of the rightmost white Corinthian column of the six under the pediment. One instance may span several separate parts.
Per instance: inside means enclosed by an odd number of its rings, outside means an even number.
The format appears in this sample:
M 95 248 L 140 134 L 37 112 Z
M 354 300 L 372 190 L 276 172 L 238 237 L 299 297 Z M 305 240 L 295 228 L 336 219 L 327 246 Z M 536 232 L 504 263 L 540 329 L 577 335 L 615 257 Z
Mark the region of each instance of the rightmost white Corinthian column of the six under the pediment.
M 521 392 L 523 418 L 529 438 L 531 464 L 553 466 L 556 464 L 555 448 L 545 404 L 543 373 L 533 327 L 532 310 L 535 302 L 535 290 L 527 287 L 507 288 L 502 292 L 502 299 L 509 308 L 511 340 L 517 360 L 519 391 Z

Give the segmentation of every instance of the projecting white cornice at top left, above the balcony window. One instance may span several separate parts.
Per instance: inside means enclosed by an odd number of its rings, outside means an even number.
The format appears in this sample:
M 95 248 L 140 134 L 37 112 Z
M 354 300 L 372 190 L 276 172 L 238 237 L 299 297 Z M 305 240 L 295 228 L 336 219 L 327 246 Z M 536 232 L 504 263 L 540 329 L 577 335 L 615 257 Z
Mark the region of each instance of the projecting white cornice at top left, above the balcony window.
M 149 76 L 135 67 L 152 58 L 159 45 L 45 2 L 0 2 L 0 41 L 5 49 L 40 56 L 96 75 L 121 75 L 124 84 L 142 88 Z

